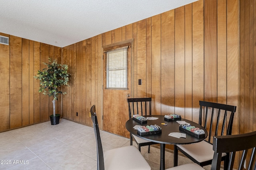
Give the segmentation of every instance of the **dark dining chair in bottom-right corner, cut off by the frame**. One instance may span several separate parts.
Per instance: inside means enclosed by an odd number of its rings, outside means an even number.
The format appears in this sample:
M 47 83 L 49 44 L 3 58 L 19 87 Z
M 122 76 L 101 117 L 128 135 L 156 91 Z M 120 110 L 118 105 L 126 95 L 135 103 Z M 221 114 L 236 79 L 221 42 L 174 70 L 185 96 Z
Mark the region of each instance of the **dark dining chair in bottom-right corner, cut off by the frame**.
M 256 170 L 256 131 L 239 135 L 220 135 L 213 137 L 213 158 L 211 170 L 220 170 L 222 154 L 228 153 L 227 170 L 236 168 L 235 156 L 238 152 L 238 170 Z M 247 163 L 245 163 L 247 162 Z M 235 164 L 235 165 L 234 165 Z M 244 167 L 245 166 L 245 167 Z M 167 170 L 204 170 L 196 163 L 175 166 Z

